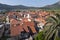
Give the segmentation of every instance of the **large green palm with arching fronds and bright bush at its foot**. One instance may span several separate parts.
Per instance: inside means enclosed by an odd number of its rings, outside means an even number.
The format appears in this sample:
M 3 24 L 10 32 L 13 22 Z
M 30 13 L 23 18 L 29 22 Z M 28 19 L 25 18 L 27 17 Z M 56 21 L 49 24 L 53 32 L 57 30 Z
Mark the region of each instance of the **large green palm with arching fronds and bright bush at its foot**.
M 47 24 L 49 24 L 49 25 L 47 25 Z M 54 14 L 54 16 L 50 16 L 48 18 L 47 24 L 44 26 L 43 33 L 42 34 L 38 33 L 35 40 L 60 40 L 60 35 L 59 35 L 59 33 L 60 33 L 60 14 Z M 41 35 L 43 35 L 43 36 L 41 36 Z M 42 37 L 43 37 L 43 39 L 41 39 Z

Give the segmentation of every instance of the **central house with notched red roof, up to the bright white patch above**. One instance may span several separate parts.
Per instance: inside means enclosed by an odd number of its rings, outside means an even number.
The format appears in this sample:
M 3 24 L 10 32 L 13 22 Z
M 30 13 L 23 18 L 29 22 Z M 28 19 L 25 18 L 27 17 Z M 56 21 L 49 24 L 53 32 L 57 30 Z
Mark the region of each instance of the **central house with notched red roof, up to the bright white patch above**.
M 36 29 L 35 29 L 35 27 L 34 27 L 34 22 L 31 20 L 31 19 L 29 19 L 29 18 L 23 18 L 23 28 L 26 30 L 26 32 L 29 32 L 28 30 L 28 27 L 31 29 L 31 31 L 32 31 L 32 33 L 37 33 L 36 32 Z

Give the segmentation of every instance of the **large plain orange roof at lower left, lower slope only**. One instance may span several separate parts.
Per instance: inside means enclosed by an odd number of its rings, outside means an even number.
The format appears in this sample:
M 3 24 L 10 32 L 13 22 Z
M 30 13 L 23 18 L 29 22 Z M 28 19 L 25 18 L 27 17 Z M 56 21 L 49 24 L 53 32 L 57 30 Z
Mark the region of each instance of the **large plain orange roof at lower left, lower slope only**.
M 18 36 L 23 30 L 21 25 L 10 26 L 11 36 Z

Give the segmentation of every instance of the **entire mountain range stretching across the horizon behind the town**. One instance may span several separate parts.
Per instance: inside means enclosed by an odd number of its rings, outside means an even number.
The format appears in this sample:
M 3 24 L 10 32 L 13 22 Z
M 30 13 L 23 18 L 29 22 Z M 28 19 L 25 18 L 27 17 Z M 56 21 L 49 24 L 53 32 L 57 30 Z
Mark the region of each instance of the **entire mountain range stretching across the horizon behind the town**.
M 0 3 L 0 11 L 1 10 L 18 10 L 18 9 L 58 9 L 60 10 L 60 1 L 52 4 L 52 5 L 47 5 L 44 7 L 28 7 L 28 6 L 24 6 L 24 5 L 15 5 L 15 6 L 11 6 L 11 5 L 6 5 L 6 4 L 1 4 Z

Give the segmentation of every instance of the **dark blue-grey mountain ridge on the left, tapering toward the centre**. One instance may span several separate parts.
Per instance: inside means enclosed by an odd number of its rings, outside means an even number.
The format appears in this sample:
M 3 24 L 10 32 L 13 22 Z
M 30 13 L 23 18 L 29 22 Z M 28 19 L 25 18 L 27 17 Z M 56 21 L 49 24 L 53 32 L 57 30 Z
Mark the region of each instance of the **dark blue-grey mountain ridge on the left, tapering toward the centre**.
M 6 4 L 1 4 L 1 3 L 0 3 L 0 10 L 37 9 L 37 8 L 38 8 L 38 7 L 28 7 L 28 6 L 24 6 L 24 5 L 11 6 L 11 5 L 6 5 Z

